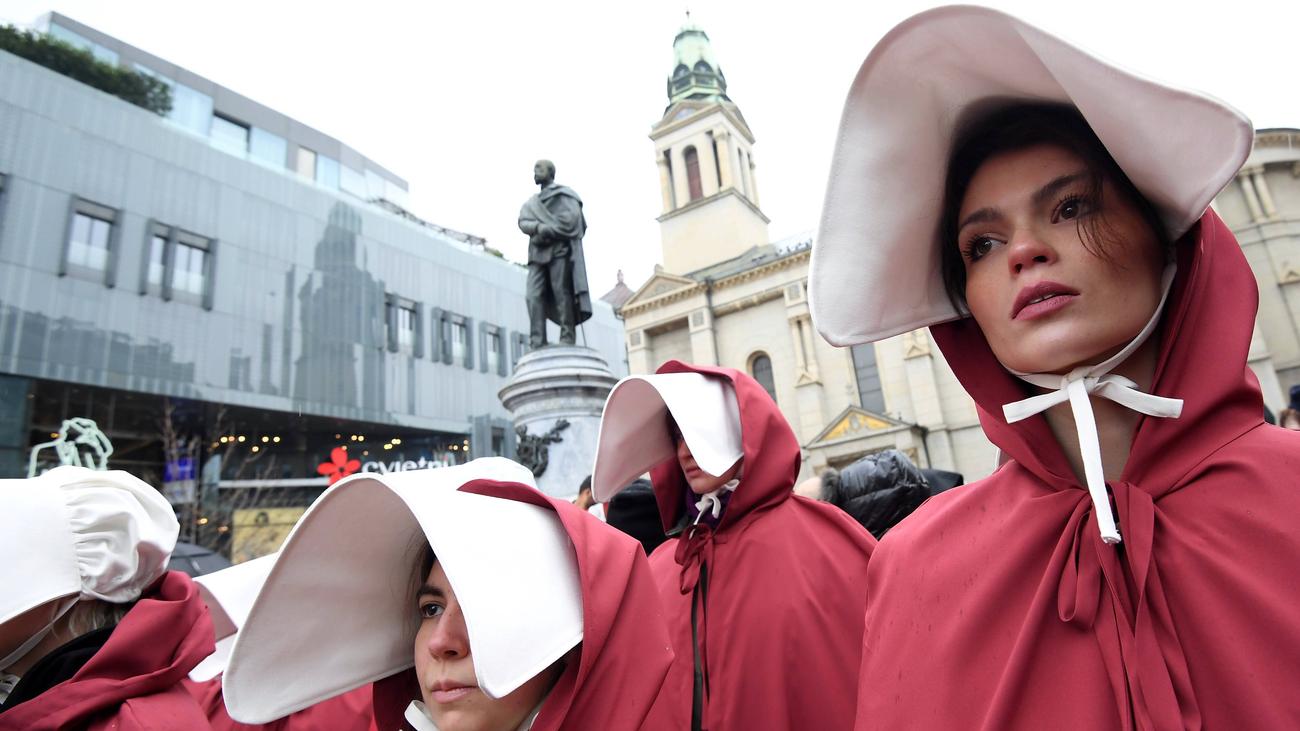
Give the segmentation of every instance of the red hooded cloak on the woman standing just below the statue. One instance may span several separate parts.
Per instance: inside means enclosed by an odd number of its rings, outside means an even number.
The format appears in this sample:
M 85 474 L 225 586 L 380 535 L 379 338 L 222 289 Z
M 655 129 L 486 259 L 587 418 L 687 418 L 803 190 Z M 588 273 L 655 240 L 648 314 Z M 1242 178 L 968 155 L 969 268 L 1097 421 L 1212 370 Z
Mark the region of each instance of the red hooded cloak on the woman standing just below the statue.
M 850 728 L 863 576 L 875 538 L 844 511 L 793 494 L 800 444 L 754 379 L 677 360 L 658 372 L 696 372 L 732 384 L 745 462 L 716 531 L 699 525 L 693 537 L 682 532 L 650 557 L 677 657 L 647 727 L 692 727 L 698 652 L 707 678 L 702 728 Z M 650 477 L 670 531 L 685 512 L 685 476 L 670 459 Z M 703 597 L 696 591 L 702 566 Z M 692 640 L 693 607 L 698 645 Z

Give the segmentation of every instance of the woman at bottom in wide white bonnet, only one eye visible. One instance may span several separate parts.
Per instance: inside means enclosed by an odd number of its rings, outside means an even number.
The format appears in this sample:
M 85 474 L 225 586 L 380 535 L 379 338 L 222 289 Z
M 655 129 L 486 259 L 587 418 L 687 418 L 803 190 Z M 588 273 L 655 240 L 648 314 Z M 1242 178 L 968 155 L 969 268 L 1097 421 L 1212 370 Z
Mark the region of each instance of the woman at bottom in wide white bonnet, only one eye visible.
M 384 730 L 636 731 L 671 659 L 641 545 L 489 458 L 321 494 L 222 689 L 243 723 L 374 682 Z

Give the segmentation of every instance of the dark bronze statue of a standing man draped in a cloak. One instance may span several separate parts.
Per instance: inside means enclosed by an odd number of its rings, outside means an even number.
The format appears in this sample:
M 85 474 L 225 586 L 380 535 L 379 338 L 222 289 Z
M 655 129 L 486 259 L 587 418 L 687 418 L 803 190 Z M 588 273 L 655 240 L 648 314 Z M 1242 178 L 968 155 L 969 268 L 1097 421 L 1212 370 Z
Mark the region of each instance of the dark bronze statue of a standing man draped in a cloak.
M 582 258 L 582 199 L 555 185 L 555 164 L 538 160 L 533 182 L 542 187 L 519 211 L 519 230 L 528 234 L 529 347 L 546 345 L 546 320 L 560 326 L 560 342 L 575 345 L 576 328 L 592 316 Z

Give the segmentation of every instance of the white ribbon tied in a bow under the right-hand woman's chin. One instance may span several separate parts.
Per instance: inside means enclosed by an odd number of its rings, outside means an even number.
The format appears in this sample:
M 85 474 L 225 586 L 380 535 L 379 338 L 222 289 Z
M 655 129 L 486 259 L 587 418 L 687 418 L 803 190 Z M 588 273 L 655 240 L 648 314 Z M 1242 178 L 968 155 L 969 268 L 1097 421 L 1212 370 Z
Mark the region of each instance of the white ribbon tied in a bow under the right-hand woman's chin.
M 1110 497 L 1106 493 L 1106 477 L 1101 464 L 1101 442 L 1097 436 L 1097 420 L 1093 416 L 1092 403 L 1088 397 L 1105 398 L 1124 408 L 1148 416 L 1178 419 L 1182 415 L 1183 399 L 1141 392 L 1134 381 L 1110 373 L 1110 371 L 1127 360 L 1156 332 L 1160 316 L 1165 311 L 1165 302 L 1169 299 L 1169 290 L 1174 284 L 1175 272 L 1176 268 L 1174 264 L 1165 267 L 1165 273 L 1161 277 L 1160 303 L 1156 306 L 1156 311 L 1147 321 L 1147 325 L 1123 350 L 1102 363 L 1080 366 L 1065 376 L 1057 373 L 1022 373 L 1008 368 L 1008 371 L 1011 371 L 1022 381 L 1039 388 L 1052 389 L 1044 394 L 1004 405 L 1002 415 L 1006 418 L 1008 424 L 1028 419 L 1060 403 L 1070 402 L 1074 427 L 1079 434 L 1079 455 L 1083 459 L 1084 481 L 1088 485 L 1088 496 L 1092 498 L 1092 510 L 1097 514 L 1101 540 L 1108 544 L 1118 544 L 1121 537 L 1119 529 L 1115 525 L 1114 511 L 1110 509 Z

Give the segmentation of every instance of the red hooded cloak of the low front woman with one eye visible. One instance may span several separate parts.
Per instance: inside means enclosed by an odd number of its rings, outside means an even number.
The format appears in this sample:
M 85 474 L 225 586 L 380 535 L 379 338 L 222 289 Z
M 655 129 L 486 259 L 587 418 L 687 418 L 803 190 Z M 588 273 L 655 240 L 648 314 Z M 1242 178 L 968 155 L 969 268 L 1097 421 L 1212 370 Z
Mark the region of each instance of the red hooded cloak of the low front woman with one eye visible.
M 641 544 L 568 501 L 514 483 L 477 480 L 462 490 L 549 507 L 577 553 L 582 644 L 547 693 L 532 731 L 636 731 L 659 695 L 672 648 Z M 408 728 L 420 698 L 415 670 L 374 683 L 378 728 Z

